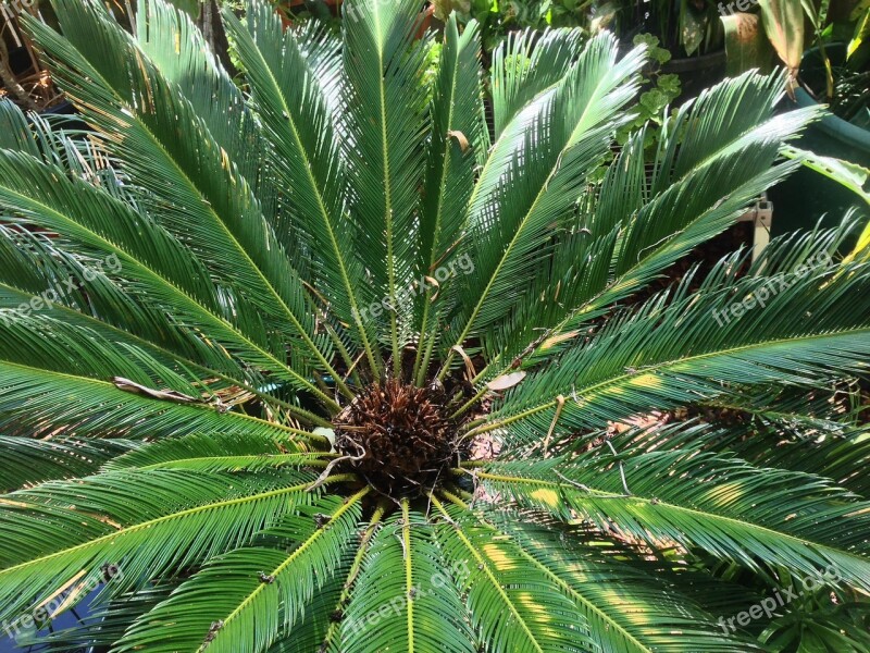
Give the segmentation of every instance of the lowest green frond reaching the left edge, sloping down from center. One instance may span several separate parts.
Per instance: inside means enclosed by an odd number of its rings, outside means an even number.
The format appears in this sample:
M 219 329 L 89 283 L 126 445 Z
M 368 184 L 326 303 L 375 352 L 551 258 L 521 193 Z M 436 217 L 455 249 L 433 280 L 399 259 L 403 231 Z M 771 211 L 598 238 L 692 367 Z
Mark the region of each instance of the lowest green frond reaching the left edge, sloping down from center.
M 306 492 L 312 479 L 307 472 L 259 475 L 247 481 L 188 470 L 90 478 L 85 492 L 77 482 L 50 481 L 5 495 L 3 541 L 12 538 L 26 549 L 3 546 L 0 580 L 4 592 L 17 599 L 4 601 L 2 618 L 26 609 L 30 594 L 69 588 L 70 579 L 78 582 L 83 569 L 90 579 L 103 564 L 123 565 L 124 579 L 115 589 L 124 589 L 141 575 L 213 557 L 246 543 L 295 503 L 312 497 Z M 63 543 L 46 540 L 46 529 L 62 530 Z M 156 537 L 169 549 L 152 547 L 142 555 L 142 544 Z M 132 552 L 137 555 L 127 558 Z

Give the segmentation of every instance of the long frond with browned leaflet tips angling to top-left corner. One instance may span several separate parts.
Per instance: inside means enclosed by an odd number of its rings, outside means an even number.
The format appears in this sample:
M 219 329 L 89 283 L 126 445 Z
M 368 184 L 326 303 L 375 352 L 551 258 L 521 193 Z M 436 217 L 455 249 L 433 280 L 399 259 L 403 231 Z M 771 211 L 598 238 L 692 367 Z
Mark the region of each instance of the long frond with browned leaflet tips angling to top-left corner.
M 152 194 L 151 214 L 178 237 L 198 243 L 201 259 L 244 288 L 253 307 L 281 320 L 277 328 L 293 338 L 301 360 L 316 359 L 330 369 L 327 340 L 314 342 L 298 274 L 247 180 L 228 164 L 226 151 L 194 107 L 96 5 L 59 5 L 59 20 L 64 38 L 37 22 L 30 27 L 34 36 L 49 59 L 58 60 L 55 74 L 67 94 L 92 107 L 95 124 L 124 134 L 108 149 Z M 90 27 L 82 29 L 85 25 Z M 175 137 L 178 122 L 200 134 L 197 147 Z M 232 120 L 224 124 L 234 126 Z

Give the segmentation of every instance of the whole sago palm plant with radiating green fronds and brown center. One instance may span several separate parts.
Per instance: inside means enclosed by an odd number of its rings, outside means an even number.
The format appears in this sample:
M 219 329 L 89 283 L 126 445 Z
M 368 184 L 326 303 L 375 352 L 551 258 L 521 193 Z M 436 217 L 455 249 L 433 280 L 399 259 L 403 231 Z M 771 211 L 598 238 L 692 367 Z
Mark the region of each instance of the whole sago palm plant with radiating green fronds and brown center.
M 50 650 L 866 645 L 848 223 L 648 291 L 797 164 L 782 78 L 608 164 L 644 63 L 609 36 L 512 35 L 484 75 L 415 2 L 346 0 L 338 38 L 254 1 L 235 81 L 161 0 L 133 35 L 55 9 L 29 29 L 91 131 L 0 104 L 20 645 L 82 602 Z

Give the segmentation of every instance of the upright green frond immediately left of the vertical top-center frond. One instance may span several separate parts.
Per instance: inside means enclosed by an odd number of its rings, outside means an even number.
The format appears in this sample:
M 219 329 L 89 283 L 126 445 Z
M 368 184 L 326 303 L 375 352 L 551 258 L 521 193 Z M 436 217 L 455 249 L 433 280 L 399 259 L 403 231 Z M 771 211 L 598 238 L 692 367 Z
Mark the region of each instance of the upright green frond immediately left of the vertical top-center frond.
M 335 319 L 356 324 L 356 344 L 364 347 L 373 364 L 373 326 L 360 317 L 362 266 L 352 246 L 353 223 L 345 214 L 348 182 L 319 71 L 315 62 L 304 57 L 294 33 L 283 33 L 271 8 L 252 5 L 247 17 L 243 27 L 228 13 L 227 23 L 248 73 L 258 115 L 269 126 L 272 167 L 290 192 L 287 199 L 298 213 L 289 215 L 290 224 L 278 230 L 298 233 L 319 252 L 314 262 L 319 287 L 330 298 Z

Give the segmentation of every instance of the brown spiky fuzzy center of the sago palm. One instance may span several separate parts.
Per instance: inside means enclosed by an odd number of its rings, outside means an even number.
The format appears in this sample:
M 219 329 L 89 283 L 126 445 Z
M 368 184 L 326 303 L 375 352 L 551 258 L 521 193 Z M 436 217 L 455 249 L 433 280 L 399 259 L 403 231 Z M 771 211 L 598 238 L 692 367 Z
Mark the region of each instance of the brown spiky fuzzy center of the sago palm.
M 458 464 L 457 422 L 439 384 L 372 385 L 335 419 L 336 447 L 347 466 L 389 496 L 422 494 Z

